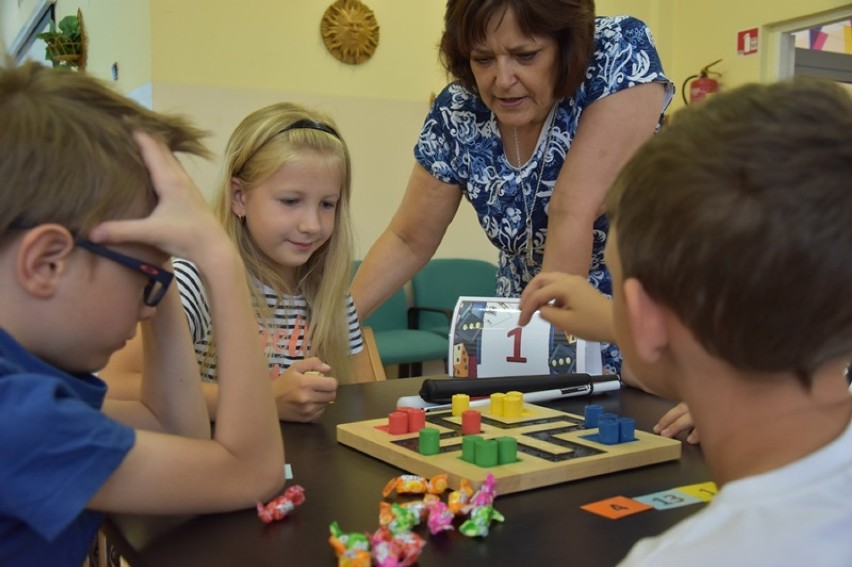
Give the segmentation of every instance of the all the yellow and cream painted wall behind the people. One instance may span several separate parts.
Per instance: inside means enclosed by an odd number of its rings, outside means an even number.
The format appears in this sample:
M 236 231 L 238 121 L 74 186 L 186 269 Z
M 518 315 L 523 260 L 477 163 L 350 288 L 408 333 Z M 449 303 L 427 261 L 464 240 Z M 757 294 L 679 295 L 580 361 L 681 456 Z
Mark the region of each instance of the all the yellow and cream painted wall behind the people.
M 259 106 L 294 100 L 333 114 L 352 150 L 358 254 L 387 225 L 413 165 L 412 147 L 431 93 L 446 81 L 436 45 L 441 0 L 364 0 L 380 26 L 379 46 L 350 66 L 322 44 L 320 20 L 332 0 L 58 0 L 59 16 L 80 7 L 90 37 L 89 71 L 156 110 L 182 112 L 212 131 L 221 153 L 238 121 Z M 35 0 L 0 0 L 0 39 L 8 43 Z M 777 78 L 781 31 L 820 18 L 852 16 L 840 0 L 597 0 L 599 14 L 644 20 L 666 73 L 684 79 L 716 60 L 723 88 Z M 820 16 L 809 15 L 819 14 Z M 736 54 L 736 33 L 760 29 L 759 53 Z M 672 109 L 682 106 L 680 95 Z M 208 194 L 217 164 L 187 162 Z M 438 256 L 494 261 L 470 207 L 459 215 Z

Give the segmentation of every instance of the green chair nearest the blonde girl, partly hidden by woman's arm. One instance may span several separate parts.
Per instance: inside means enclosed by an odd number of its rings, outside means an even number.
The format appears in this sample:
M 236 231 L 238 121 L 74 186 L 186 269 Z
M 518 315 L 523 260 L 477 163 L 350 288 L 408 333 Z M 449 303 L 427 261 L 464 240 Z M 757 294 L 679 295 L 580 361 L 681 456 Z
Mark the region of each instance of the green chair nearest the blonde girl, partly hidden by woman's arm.
M 359 264 L 355 262 L 354 270 Z M 399 365 L 400 378 L 419 376 L 422 363 L 429 360 L 442 360 L 446 367 L 449 352 L 446 337 L 408 327 L 408 299 L 404 288 L 397 290 L 361 325 L 372 328 L 382 364 Z

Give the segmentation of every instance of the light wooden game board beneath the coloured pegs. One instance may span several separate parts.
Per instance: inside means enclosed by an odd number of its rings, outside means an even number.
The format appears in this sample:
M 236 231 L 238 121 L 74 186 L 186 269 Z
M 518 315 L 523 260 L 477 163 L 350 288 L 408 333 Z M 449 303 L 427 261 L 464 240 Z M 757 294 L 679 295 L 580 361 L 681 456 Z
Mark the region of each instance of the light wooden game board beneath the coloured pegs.
M 427 414 L 426 427 L 440 431 L 440 453 L 419 452 L 419 434 L 391 435 L 387 418 L 337 426 L 337 441 L 400 469 L 423 477 L 447 473 L 458 489 L 465 478 L 474 485 L 494 474 L 500 494 L 642 467 L 680 458 L 681 442 L 636 430 L 635 440 L 616 445 L 596 441 L 597 429 L 585 429 L 582 416 L 525 404 L 517 419 L 492 416 L 483 409 L 483 438 L 512 436 L 518 443 L 518 461 L 482 468 L 461 459 L 461 417 L 451 410 Z

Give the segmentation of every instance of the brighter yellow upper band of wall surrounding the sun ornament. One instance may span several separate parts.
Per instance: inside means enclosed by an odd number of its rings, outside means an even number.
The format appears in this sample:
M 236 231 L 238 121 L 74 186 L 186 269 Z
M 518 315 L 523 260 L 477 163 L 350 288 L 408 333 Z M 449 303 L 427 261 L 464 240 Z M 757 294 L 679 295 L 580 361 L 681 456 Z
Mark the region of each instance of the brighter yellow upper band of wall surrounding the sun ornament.
M 445 82 L 435 50 L 440 2 L 367 0 L 379 24 L 379 46 L 357 66 L 337 61 L 322 43 L 320 21 L 331 4 L 151 0 L 153 79 L 412 101 L 428 100 Z

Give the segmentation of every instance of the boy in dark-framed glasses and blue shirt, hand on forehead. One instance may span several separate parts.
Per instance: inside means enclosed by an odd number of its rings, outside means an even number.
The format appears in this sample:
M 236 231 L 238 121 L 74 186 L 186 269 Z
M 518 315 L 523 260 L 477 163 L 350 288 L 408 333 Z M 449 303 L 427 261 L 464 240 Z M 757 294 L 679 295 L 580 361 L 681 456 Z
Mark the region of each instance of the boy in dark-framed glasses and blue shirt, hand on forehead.
M 283 484 L 242 263 L 171 153 L 203 154 L 199 134 L 84 74 L 0 69 L 0 564 L 79 565 L 103 512 L 239 509 Z M 212 437 L 171 256 L 209 289 Z M 104 401 L 92 373 L 138 321 L 142 400 Z

